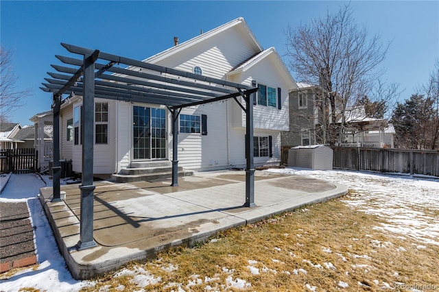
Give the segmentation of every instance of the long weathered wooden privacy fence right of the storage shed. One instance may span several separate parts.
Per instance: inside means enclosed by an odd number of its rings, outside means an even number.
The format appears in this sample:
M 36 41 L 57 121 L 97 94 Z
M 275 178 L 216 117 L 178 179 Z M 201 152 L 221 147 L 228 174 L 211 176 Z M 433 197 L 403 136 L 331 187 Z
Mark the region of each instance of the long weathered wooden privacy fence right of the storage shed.
M 377 149 L 331 147 L 333 167 L 387 173 L 439 177 L 439 151 L 418 149 Z

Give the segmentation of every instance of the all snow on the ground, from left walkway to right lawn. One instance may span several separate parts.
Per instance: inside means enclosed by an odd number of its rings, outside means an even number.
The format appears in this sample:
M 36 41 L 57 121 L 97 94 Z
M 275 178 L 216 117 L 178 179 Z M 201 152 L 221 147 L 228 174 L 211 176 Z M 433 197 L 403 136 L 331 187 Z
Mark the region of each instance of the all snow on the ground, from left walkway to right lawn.
M 420 243 L 432 243 L 439 245 L 439 222 L 434 219 L 434 212 L 439 210 L 439 180 L 435 179 L 418 179 L 410 177 L 400 177 L 391 175 L 380 175 L 375 173 L 362 173 L 356 171 L 311 171 L 304 169 L 270 169 L 268 171 L 278 173 L 290 173 L 295 175 L 306 175 L 310 178 L 318 178 L 329 182 L 344 184 L 357 193 L 357 196 L 350 196 L 344 199 L 346 204 L 358 207 L 360 210 L 378 215 L 387 221 L 375 228 L 394 232 L 396 236 L 411 236 Z M 3 182 L 3 180 L 2 180 Z M 51 181 L 47 176 L 40 178 L 36 174 L 12 175 L 7 186 L 0 195 L 1 201 L 27 200 L 31 212 L 32 222 L 34 224 L 36 236 L 36 252 L 38 257 L 38 269 L 25 269 L 7 280 L 0 280 L 1 291 L 19 291 L 23 287 L 33 287 L 41 291 L 79 291 L 82 287 L 93 286 L 93 281 L 78 281 L 71 277 L 69 270 L 66 268 L 64 258 L 58 252 L 56 241 L 51 232 L 49 223 L 45 217 L 43 208 L 38 202 L 37 195 L 40 187 L 51 186 Z M 436 215 L 437 216 L 437 215 Z M 289 234 L 284 234 L 289 236 Z M 354 240 L 354 239 L 353 239 Z M 388 242 L 373 241 L 375 245 L 391 245 Z M 423 248 L 424 245 L 417 245 L 417 248 Z M 322 247 L 324 252 L 331 252 L 327 247 Z M 276 251 L 281 249 L 276 247 Z M 294 256 L 294 254 L 291 254 Z M 342 254 L 337 254 L 345 261 Z M 362 255 L 351 255 L 361 257 Z M 257 274 L 261 272 L 276 273 L 273 269 L 263 267 L 261 270 L 253 265 L 255 260 L 248 260 L 248 270 Z M 335 269 L 331 263 L 323 263 L 325 269 Z M 303 268 L 323 267 L 320 264 L 311 263 L 309 260 L 304 261 Z M 178 267 L 172 265 L 163 266 L 166 271 L 172 272 Z M 221 285 L 223 289 L 243 289 L 251 288 L 252 284 L 234 278 L 233 267 L 222 268 L 223 273 L 228 274 L 226 282 Z M 114 276 L 123 274 L 132 274 L 136 277 L 134 281 L 138 283 L 139 289 L 146 287 L 148 284 L 160 282 L 161 278 L 155 277 L 149 271 L 134 268 L 132 271 L 123 269 Z M 201 271 L 200 271 L 201 273 Z M 283 273 L 291 274 L 289 271 Z M 292 271 L 292 276 L 299 273 L 306 274 L 305 269 L 299 268 Z M 176 287 L 178 291 L 184 291 L 182 287 L 189 289 L 192 285 L 200 284 L 202 281 L 198 275 L 193 275 L 188 279 L 187 284 L 169 283 Z M 218 280 L 215 278 L 205 278 L 204 282 Z M 361 283 L 359 283 L 361 284 Z M 384 283 L 383 285 L 386 286 Z M 169 287 L 171 287 L 169 286 Z M 206 287 L 209 290 L 210 286 Z M 309 291 L 316 291 L 316 287 L 306 284 Z M 338 287 L 346 288 L 345 282 L 338 282 Z M 123 286 L 118 290 L 123 290 Z M 211 287 L 212 288 L 212 287 Z M 212 288 L 213 289 L 213 288 Z

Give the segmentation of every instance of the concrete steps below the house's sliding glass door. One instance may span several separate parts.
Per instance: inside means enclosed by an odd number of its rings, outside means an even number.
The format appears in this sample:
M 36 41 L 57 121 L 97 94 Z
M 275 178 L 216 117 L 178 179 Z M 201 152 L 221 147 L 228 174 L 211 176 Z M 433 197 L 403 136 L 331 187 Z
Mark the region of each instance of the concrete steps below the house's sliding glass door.
M 193 171 L 185 171 L 178 167 L 178 176 L 193 175 Z M 116 182 L 139 182 L 142 180 L 164 180 L 172 178 L 172 163 L 169 160 L 131 162 L 130 167 L 113 174 Z

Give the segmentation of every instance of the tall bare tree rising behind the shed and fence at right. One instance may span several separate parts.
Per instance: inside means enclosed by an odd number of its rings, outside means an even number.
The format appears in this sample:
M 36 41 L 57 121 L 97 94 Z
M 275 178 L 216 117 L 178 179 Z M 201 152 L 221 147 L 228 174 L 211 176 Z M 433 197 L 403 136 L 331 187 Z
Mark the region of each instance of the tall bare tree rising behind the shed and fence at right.
M 288 26 L 285 35 L 290 69 L 300 81 L 319 84 L 327 93 L 322 95 L 327 99 L 322 103 L 328 104 L 329 123 L 333 124 L 327 129 L 337 132 L 341 143 L 346 108 L 368 95 L 382 73 L 377 66 L 390 44 L 383 45 L 378 35 L 369 37 L 368 29 L 355 23 L 349 5 L 309 24 L 294 29 Z M 337 121 L 339 127 L 335 127 Z

